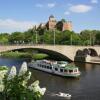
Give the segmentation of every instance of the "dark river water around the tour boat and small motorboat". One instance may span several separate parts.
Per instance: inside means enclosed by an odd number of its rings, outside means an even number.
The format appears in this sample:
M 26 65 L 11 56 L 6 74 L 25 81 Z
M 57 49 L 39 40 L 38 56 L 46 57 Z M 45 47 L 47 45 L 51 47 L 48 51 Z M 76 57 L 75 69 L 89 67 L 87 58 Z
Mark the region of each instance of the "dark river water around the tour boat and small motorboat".
M 0 66 L 16 66 L 20 68 L 27 59 L 0 58 Z M 56 97 L 58 92 L 70 93 L 71 100 L 100 100 L 100 65 L 88 63 L 75 63 L 79 66 L 81 76 L 79 79 L 63 78 L 29 68 L 32 72 L 31 81 L 39 80 L 40 86 L 47 88 L 43 100 L 66 100 Z

